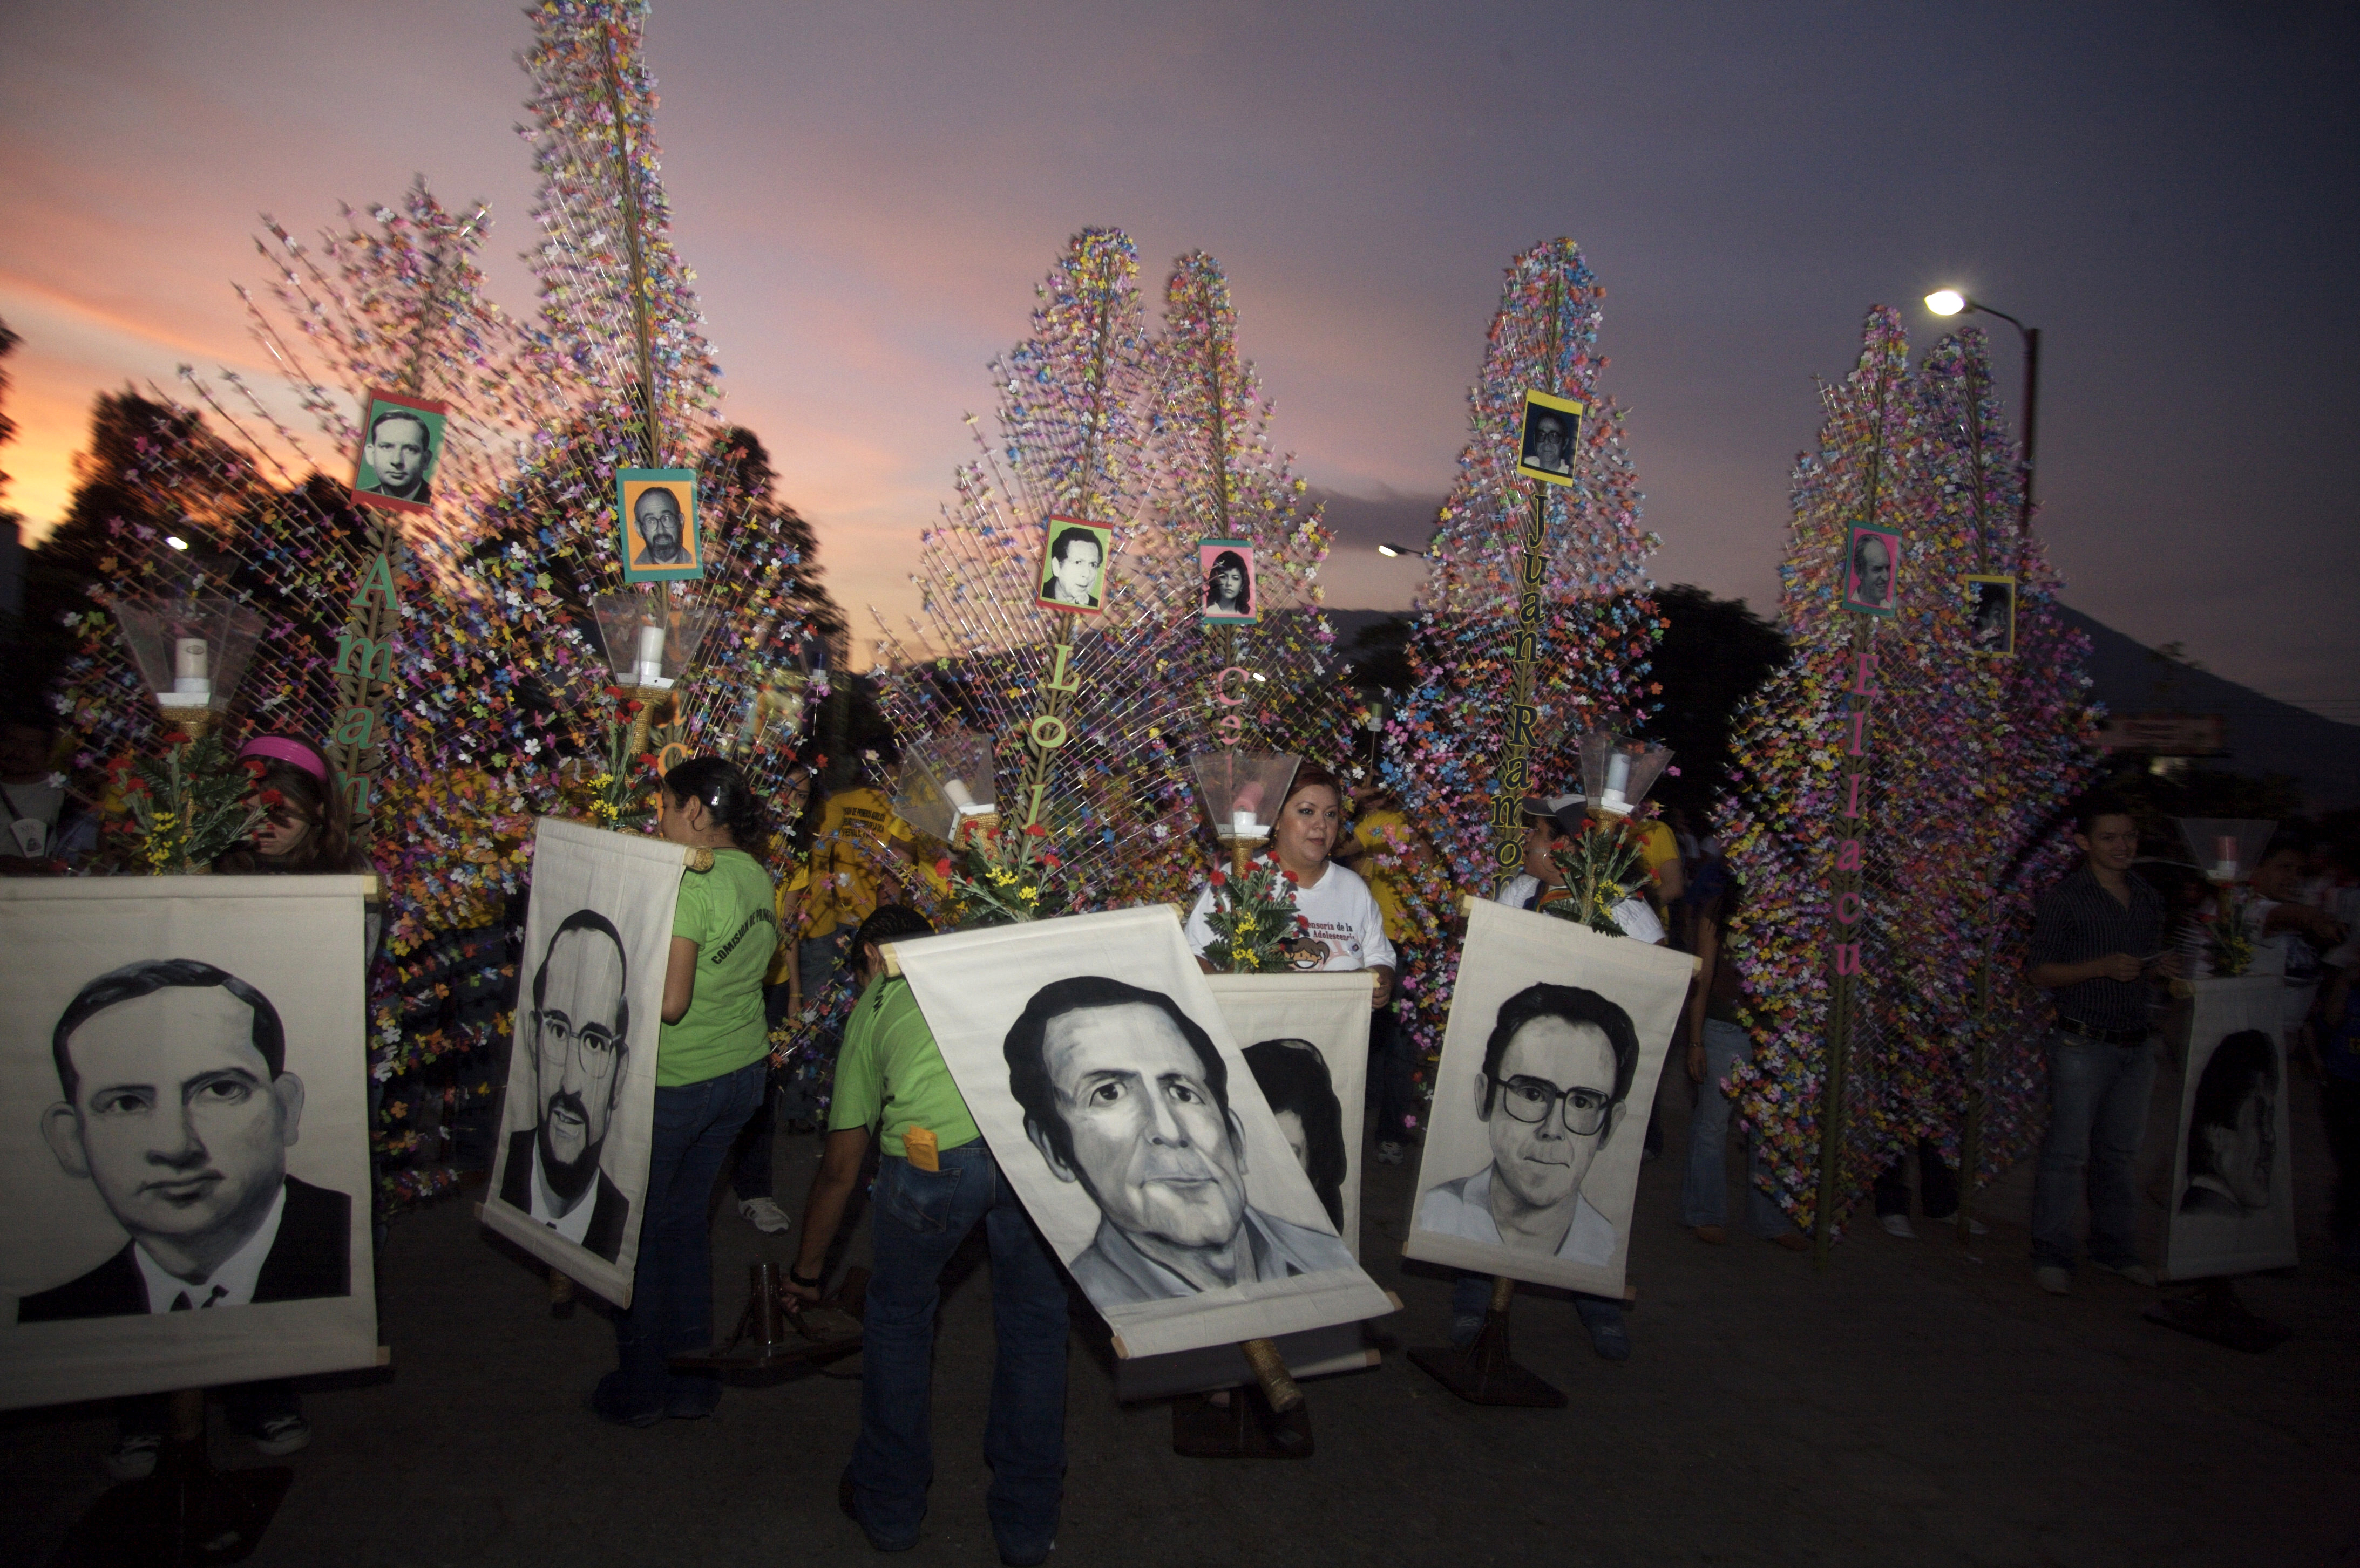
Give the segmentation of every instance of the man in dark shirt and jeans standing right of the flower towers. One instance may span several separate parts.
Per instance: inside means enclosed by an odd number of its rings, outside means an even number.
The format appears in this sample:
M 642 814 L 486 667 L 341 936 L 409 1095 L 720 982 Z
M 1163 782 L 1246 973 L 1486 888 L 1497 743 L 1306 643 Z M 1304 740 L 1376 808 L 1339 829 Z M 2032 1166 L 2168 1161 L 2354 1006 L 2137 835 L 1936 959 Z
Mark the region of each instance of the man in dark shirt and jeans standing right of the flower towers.
M 2178 974 L 2178 955 L 2164 953 L 2164 898 L 2131 875 L 2138 823 L 2129 809 L 2110 797 L 2084 799 L 2072 842 L 2082 865 L 2041 894 L 2025 971 L 2058 1009 L 2048 1134 L 2032 1188 L 2032 1278 L 2051 1294 L 2072 1290 L 2084 1188 L 2091 1261 L 2133 1285 L 2155 1283 L 2133 1245 L 2133 1170 L 2155 1089 L 2148 993 Z

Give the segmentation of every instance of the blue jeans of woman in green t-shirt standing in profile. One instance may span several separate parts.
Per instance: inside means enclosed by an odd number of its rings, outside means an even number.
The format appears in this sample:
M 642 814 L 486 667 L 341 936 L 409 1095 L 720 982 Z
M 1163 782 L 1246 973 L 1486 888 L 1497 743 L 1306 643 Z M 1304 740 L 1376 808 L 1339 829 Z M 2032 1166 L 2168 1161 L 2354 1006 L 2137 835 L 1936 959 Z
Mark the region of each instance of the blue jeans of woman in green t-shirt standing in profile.
M 607 1415 L 710 1415 L 717 1377 L 680 1377 L 666 1358 L 713 1344 L 713 1179 L 739 1127 L 762 1101 L 769 1059 L 673 1089 L 656 1087 L 656 1125 L 640 1200 L 640 1261 L 630 1306 L 614 1316 L 621 1370 L 599 1382 Z

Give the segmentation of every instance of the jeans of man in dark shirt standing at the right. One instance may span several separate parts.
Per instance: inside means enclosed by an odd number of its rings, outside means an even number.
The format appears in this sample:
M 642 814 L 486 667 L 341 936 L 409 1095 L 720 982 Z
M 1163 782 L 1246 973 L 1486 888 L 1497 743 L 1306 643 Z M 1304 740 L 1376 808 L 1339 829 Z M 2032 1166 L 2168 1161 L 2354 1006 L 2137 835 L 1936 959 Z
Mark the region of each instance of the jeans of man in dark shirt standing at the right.
M 2110 1269 L 2138 1261 L 2133 1167 L 2148 1132 L 2155 1049 L 2048 1035 L 2048 1134 L 2032 1186 L 2032 1264 L 2072 1269 L 2072 1226 L 2089 1193 L 2089 1254 Z

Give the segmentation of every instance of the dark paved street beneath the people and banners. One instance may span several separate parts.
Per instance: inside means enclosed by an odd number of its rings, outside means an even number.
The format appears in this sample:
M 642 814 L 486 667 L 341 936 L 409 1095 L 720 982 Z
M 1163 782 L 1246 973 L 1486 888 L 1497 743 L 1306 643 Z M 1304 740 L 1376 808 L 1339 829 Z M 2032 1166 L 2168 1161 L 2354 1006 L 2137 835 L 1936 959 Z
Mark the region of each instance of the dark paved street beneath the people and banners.
M 2157 1122 L 2178 1082 L 2157 1082 Z M 1163 1405 L 1119 1408 L 1104 1330 L 1081 1313 L 1062 1563 L 2360 1563 L 2360 1278 L 2303 1266 L 2242 1285 L 2296 1330 L 2240 1356 L 2143 1323 L 2152 1292 L 2084 1271 L 2032 1287 L 2030 1167 L 1987 1200 L 1968 1254 L 1869 1221 L 1820 1273 L 1756 1240 L 1706 1247 L 1676 1214 L 1685 1115 L 1640 1179 L 1633 1358 L 1598 1361 L 1562 1297 L 1515 1304 L 1517 1358 L 1572 1408 L 1458 1403 L 1402 1349 L 1435 1344 L 1449 1283 L 1399 1264 L 1411 1170 L 1371 1167 L 1364 1252 L 1409 1309 L 1378 1325 L 1378 1370 L 1317 1382 L 1307 1462 L 1171 1452 Z M 2327 1155 L 2315 1089 L 2294 1099 L 2306 1257 L 2325 1254 Z M 2150 1132 L 2150 1162 L 2169 1139 Z M 817 1139 L 781 1139 L 800 1212 Z M 1735 1165 L 1735 1162 L 1732 1162 Z M 2150 1240 L 2162 1212 L 2148 1203 Z M 715 1221 L 722 1316 L 758 1247 Z M 2155 1243 L 2159 1247 L 2159 1240 Z M 866 1236 L 852 1243 L 852 1257 Z M 2150 1250 L 2152 1254 L 2152 1250 Z M 316 1443 L 255 1554 L 264 1568 L 437 1563 L 861 1563 L 835 1511 L 859 1363 L 732 1391 L 715 1419 L 647 1431 L 583 1408 L 611 1330 L 545 1311 L 540 1278 L 470 1200 L 406 1217 L 382 1259 L 392 1368 L 319 1379 Z M 937 1481 L 925 1540 L 899 1559 L 996 1559 L 984 1521 L 989 1280 L 949 1297 L 937 1370 Z M 99 1408 L 0 1417 L 0 1509 L 42 1563 L 101 1490 Z M 219 1434 L 222 1464 L 257 1462 Z

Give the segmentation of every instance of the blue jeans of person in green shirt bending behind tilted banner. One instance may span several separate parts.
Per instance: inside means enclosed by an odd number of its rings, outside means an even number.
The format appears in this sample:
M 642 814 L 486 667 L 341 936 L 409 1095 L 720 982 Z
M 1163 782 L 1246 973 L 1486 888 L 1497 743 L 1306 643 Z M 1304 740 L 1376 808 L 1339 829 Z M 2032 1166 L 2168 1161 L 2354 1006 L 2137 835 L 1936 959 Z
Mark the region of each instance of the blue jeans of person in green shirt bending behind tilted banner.
M 885 1155 L 871 1226 L 876 1273 L 861 1339 L 854 1511 L 873 1544 L 918 1540 L 935 1478 L 935 1309 L 942 1269 L 977 1224 L 991 1240 L 991 1417 L 986 1507 L 1001 1554 L 1027 1559 L 1057 1535 L 1064 1497 L 1064 1271 L 982 1144 L 944 1148 L 939 1172 Z

